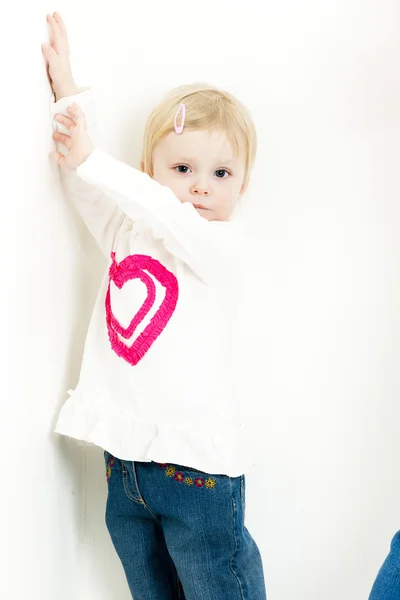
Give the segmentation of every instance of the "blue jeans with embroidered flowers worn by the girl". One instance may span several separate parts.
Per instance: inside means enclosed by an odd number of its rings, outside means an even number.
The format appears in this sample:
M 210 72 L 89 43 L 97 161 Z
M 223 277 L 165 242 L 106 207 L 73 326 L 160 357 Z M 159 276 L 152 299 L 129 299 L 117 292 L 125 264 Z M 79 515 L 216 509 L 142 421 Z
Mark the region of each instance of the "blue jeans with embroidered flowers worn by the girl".
M 266 600 L 244 476 L 104 456 L 106 524 L 134 600 Z

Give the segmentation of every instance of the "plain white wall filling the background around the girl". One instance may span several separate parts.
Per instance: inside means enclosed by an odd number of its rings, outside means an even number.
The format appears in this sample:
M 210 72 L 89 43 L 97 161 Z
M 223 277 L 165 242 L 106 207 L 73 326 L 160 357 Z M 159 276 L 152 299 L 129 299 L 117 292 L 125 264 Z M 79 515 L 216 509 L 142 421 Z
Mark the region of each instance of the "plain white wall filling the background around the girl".
M 47 160 L 40 44 L 57 9 L 117 158 L 137 162 L 145 116 L 174 85 L 208 80 L 252 110 L 243 216 L 249 284 L 264 294 L 249 295 L 244 359 L 260 434 L 247 524 L 269 600 L 365 600 L 400 528 L 397 0 L 25 4 L 8 7 L 0 36 L 0 596 L 129 598 L 103 525 L 101 452 L 51 435 L 99 274 Z

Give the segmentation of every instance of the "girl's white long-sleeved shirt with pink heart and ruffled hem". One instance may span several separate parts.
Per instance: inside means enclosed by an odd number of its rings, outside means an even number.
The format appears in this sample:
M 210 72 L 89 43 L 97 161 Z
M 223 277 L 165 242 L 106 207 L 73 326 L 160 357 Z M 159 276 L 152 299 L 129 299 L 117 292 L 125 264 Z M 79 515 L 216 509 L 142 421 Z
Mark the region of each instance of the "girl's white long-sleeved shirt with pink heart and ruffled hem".
M 95 143 L 91 89 L 53 102 L 52 117 L 73 101 Z M 64 131 L 54 120 L 53 127 Z M 97 148 L 61 175 L 109 265 L 56 431 L 124 460 L 243 474 L 252 463 L 235 395 L 245 351 L 235 328 L 243 243 L 236 225 L 208 222 Z

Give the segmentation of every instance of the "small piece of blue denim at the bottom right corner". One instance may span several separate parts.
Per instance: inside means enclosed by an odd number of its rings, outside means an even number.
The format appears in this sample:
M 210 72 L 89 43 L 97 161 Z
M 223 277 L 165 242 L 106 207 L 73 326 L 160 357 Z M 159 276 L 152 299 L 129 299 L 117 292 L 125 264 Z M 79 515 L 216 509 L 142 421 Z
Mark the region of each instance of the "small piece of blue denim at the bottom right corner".
M 369 600 L 400 600 L 400 531 L 392 539 L 390 552 L 379 570 Z

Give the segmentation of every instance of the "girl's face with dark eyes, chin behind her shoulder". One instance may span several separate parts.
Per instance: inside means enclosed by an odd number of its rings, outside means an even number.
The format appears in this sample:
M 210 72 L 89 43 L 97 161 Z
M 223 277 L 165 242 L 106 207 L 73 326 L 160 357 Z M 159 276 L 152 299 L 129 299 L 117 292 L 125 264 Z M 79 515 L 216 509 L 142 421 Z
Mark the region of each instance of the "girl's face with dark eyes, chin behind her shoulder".
M 208 221 L 226 221 L 243 193 L 244 160 L 224 133 L 184 129 L 162 138 L 153 153 L 153 179 L 190 202 Z

